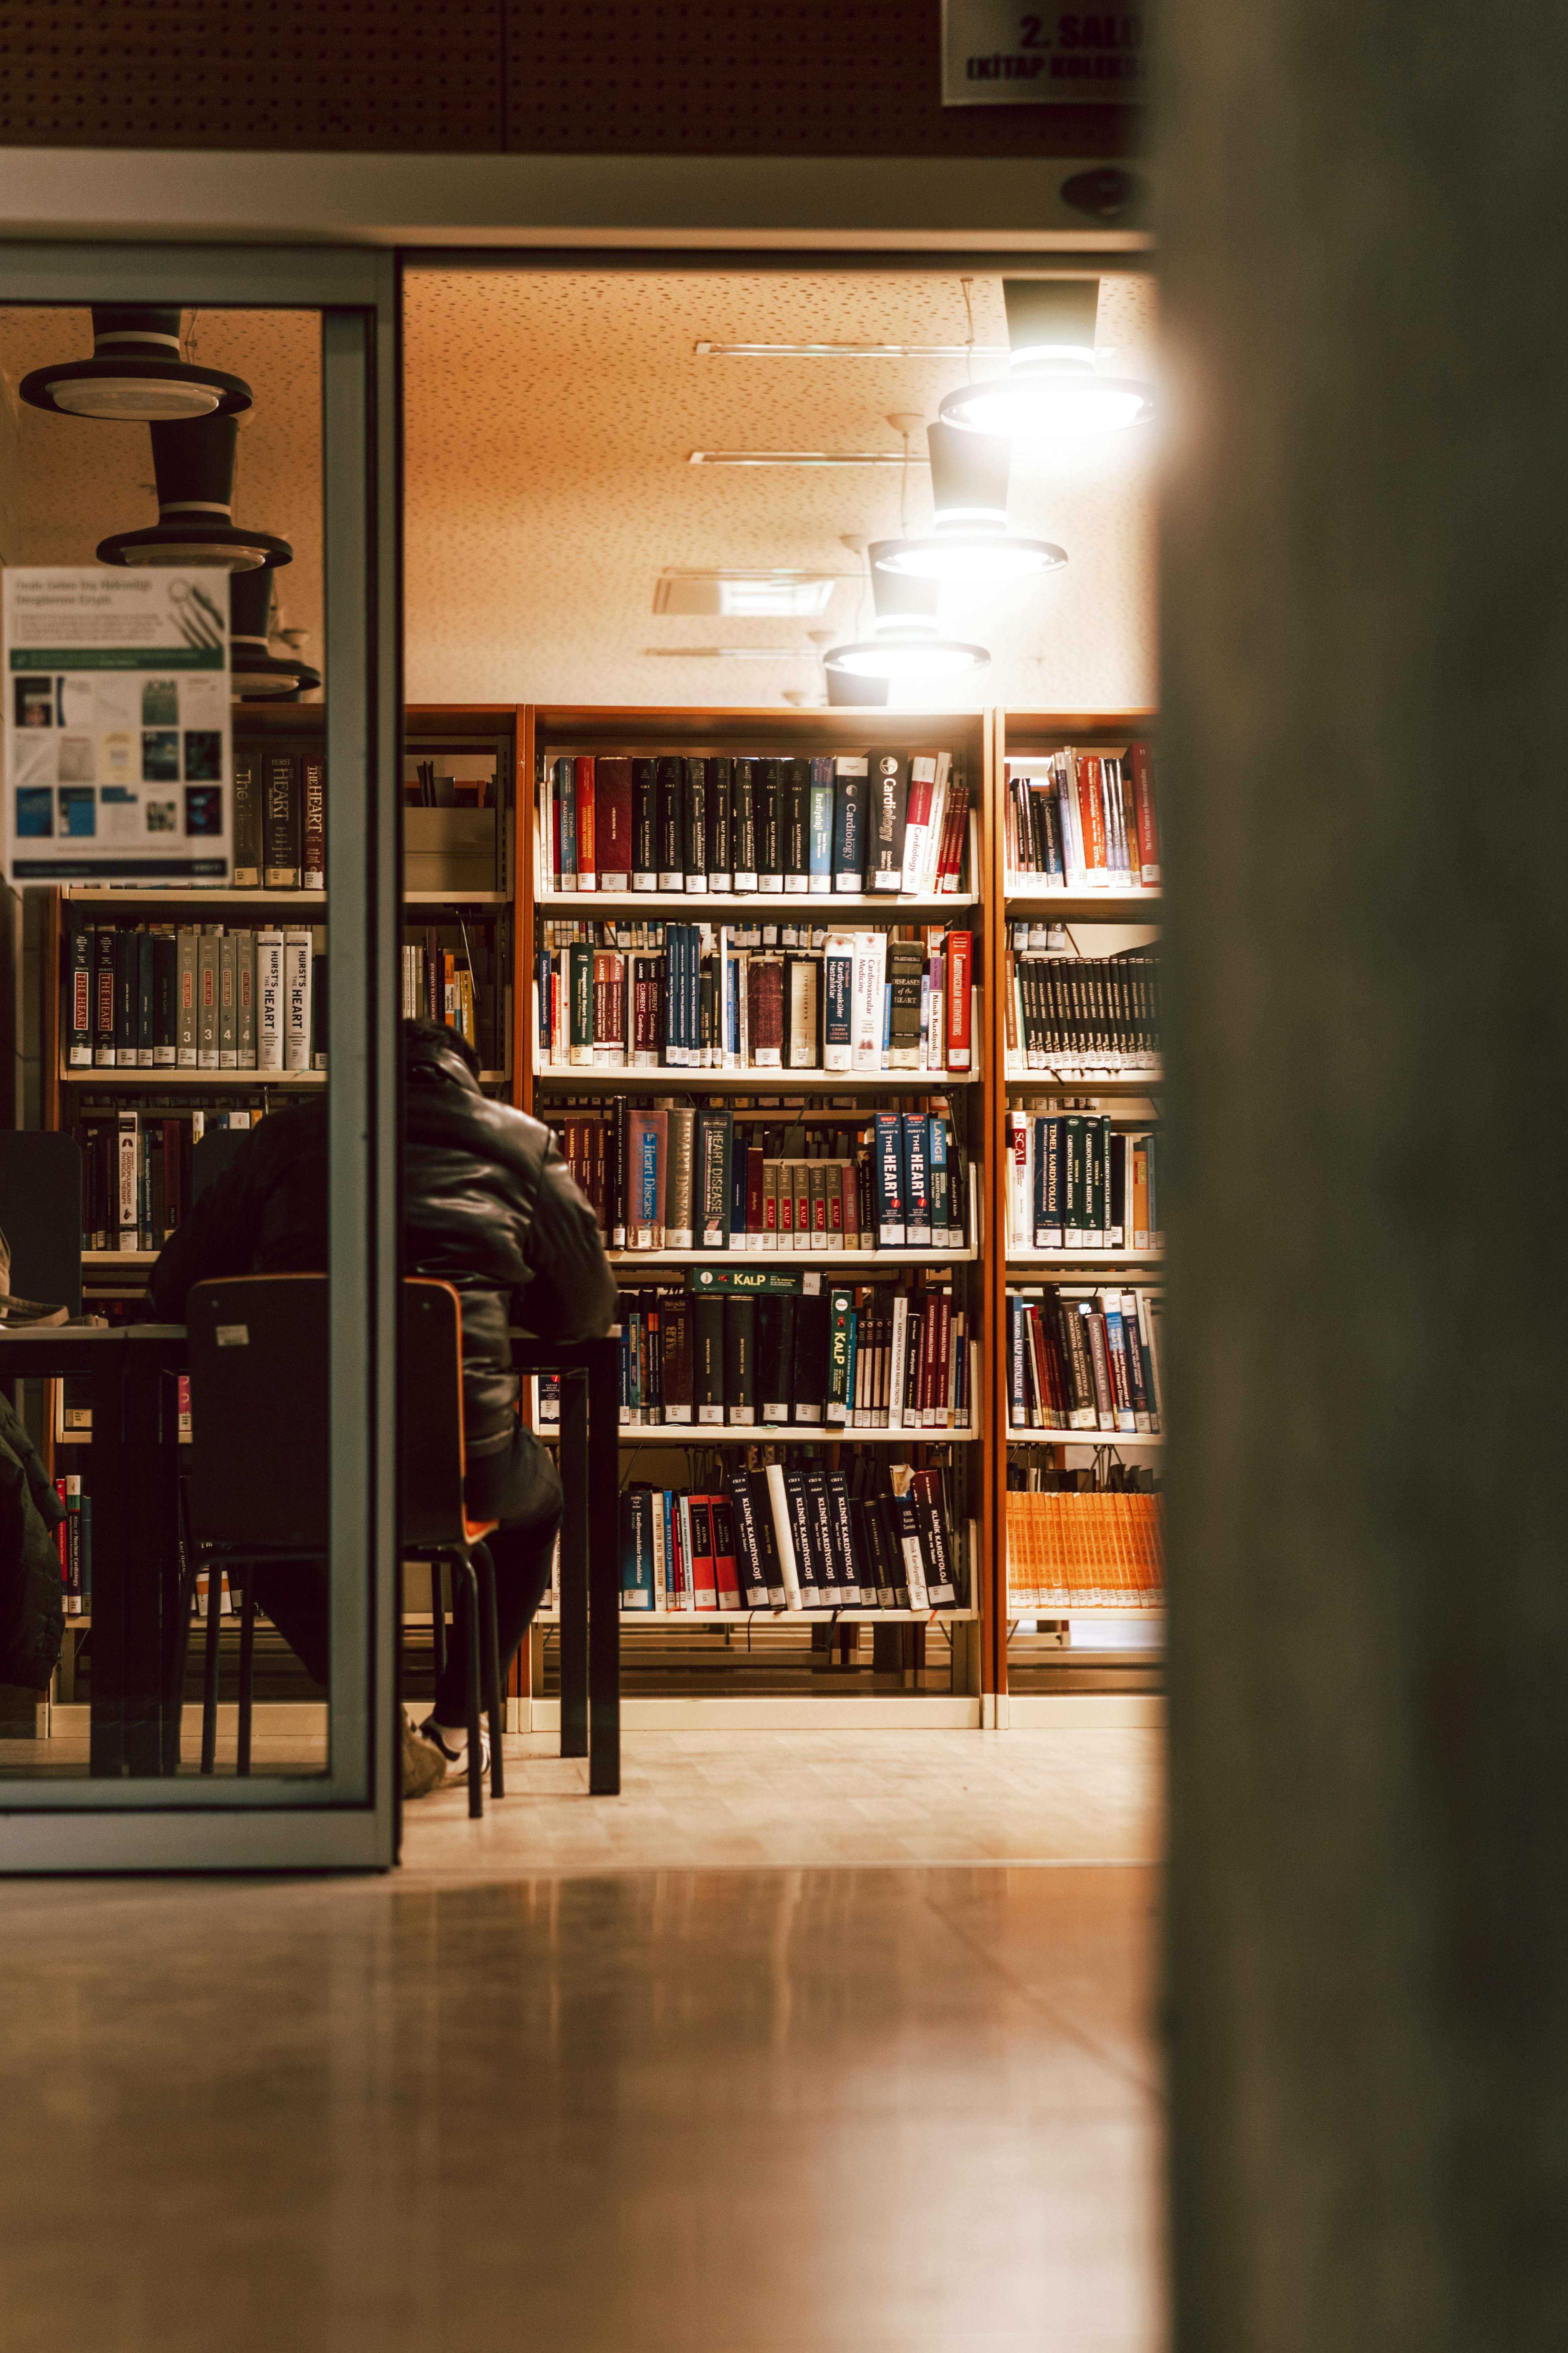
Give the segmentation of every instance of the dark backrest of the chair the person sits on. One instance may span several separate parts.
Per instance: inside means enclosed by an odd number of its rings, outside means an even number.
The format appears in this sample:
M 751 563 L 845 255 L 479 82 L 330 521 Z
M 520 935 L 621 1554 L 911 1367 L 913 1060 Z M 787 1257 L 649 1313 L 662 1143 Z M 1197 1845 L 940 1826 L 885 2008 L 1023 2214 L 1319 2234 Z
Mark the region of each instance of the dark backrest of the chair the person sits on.
M 202 1544 L 327 1551 L 327 1275 L 197 1282 L 190 1508 Z M 463 1308 L 449 1282 L 402 1285 L 402 1541 L 463 1537 Z

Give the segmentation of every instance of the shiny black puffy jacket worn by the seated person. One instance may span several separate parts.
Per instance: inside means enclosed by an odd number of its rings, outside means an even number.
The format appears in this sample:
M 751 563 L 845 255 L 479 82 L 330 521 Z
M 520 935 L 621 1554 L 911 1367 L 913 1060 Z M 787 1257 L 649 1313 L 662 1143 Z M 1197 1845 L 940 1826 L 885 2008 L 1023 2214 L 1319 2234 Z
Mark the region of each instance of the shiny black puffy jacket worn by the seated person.
M 463 1056 L 404 1033 L 404 1273 L 463 1294 L 463 1424 L 470 1454 L 505 1445 L 517 1374 L 508 1322 L 543 1339 L 597 1339 L 616 1315 L 599 1224 L 548 1127 L 491 1104 Z M 153 1313 L 186 1320 L 212 1275 L 327 1264 L 327 1106 L 273 1111 L 181 1219 L 148 1282 Z

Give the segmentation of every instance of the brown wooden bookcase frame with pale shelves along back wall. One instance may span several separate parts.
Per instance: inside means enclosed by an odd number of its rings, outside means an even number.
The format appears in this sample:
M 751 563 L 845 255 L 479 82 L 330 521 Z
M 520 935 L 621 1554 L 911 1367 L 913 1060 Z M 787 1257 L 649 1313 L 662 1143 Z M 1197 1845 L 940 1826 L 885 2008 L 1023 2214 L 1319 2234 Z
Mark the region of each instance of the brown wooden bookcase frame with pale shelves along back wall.
M 1006 1584 L 1006 1478 L 1016 1449 L 1067 1447 L 1070 1461 L 1088 1461 L 1088 1452 L 1110 1449 L 1126 1461 L 1159 1461 L 1159 1438 L 1131 1433 L 1048 1433 L 1009 1428 L 1006 1299 L 1009 1282 L 1093 1282 L 1112 1268 L 1121 1282 L 1157 1280 L 1159 1252 L 1070 1252 L 1011 1249 L 1006 1242 L 1006 1167 L 1004 1132 L 1009 1104 L 1020 1096 L 1072 1094 L 1103 1104 L 1117 1122 L 1152 1122 L 1159 1113 L 1159 1075 L 1093 1075 L 1065 1087 L 1041 1082 L 1037 1073 L 1018 1073 L 1006 1056 L 1001 974 L 1009 922 L 1063 922 L 1081 939 L 1079 927 L 1119 927 L 1112 936 L 1150 939 L 1159 929 L 1159 892 L 1063 892 L 1044 889 L 1037 878 L 1011 875 L 1001 824 L 1001 786 L 1006 762 L 1039 758 L 1060 746 L 1100 746 L 1121 751 L 1133 739 L 1147 739 L 1154 715 L 1147 711 L 1112 713 L 943 713 L 910 715 L 886 711 L 693 711 L 693 708 L 574 708 L 574 706 L 418 706 L 407 713 L 407 765 L 447 753 L 489 758 L 494 762 L 496 800 L 496 871 L 494 882 L 463 882 L 437 889 L 428 885 L 404 892 L 409 934 L 437 922 L 489 925 L 491 932 L 491 1033 L 501 1049 L 484 1056 L 484 1085 L 536 1118 L 559 1122 L 574 1104 L 625 1094 L 646 1104 L 654 1096 L 682 1101 L 726 1099 L 738 1120 L 766 1122 L 773 1106 L 788 1104 L 778 1118 L 818 1120 L 827 1127 L 856 1127 L 877 1111 L 910 1106 L 938 1096 L 947 1106 L 954 1132 L 961 1134 L 971 1184 L 969 1224 L 961 1247 L 929 1252 L 905 1249 L 811 1249 L 780 1261 L 788 1271 L 818 1275 L 823 1285 L 905 1285 L 936 1278 L 947 1285 L 947 1299 L 966 1301 L 973 1341 L 976 1388 L 969 1400 L 969 1428 L 811 1428 L 748 1426 L 686 1428 L 679 1424 L 637 1426 L 621 1433 L 623 1478 L 649 1478 L 668 1466 L 656 1485 L 682 1482 L 682 1464 L 693 1452 L 712 1449 L 715 1466 L 733 1459 L 743 1445 L 809 1442 L 835 1447 L 830 1461 L 867 1464 L 905 1459 L 940 1466 L 954 1499 L 954 1527 L 969 1539 L 969 1581 L 957 1607 L 940 1612 L 907 1609 L 837 1609 L 788 1612 L 632 1612 L 623 1614 L 625 1708 L 628 1722 L 745 1722 L 757 1727 L 820 1722 L 823 1711 L 844 1722 L 940 1722 L 983 1727 L 1030 1720 L 1037 1701 L 1030 1687 L 1025 1652 L 1030 1640 L 1016 1638 L 1009 1617 Z M 244 706 L 235 713 L 235 744 L 303 748 L 322 741 L 320 706 Z M 604 892 L 576 894 L 550 887 L 548 861 L 538 842 L 538 776 L 562 755 L 712 755 L 778 753 L 792 758 L 844 751 L 907 751 L 940 746 L 952 753 L 954 774 L 969 784 L 969 840 L 957 892 L 929 896 L 835 894 L 832 899 L 736 899 L 703 892 Z M 407 774 L 404 765 L 404 774 Z M 61 958 L 66 927 L 78 918 L 165 920 L 240 925 L 247 915 L 284 915 L 329 925 L 324 892 L 132 892 L 75 887 L 52 892 L 45 908 L 45 986 L 40 991 L 42 1038 L 42 1115 L 45 1125 L 73 1127 L 87 1096 L 127 1101 L 167 1092 L 169 1101 L 202 1089 L 214 1101 L 228 1092 L 252 1092 L 277 1099 L 301 1099 L 327 1082 L 327 1073 L 256 1073 L 256 1071 L 73 1071 L 61 1033 Z M 729 922 L 778 920 L 856 927 L 936 927 L 969 929 L 976 960 L 976 1028 L 971 1071 L 741 1071 L 741 1068 L 578 1068 L 550 1066 L 541 1054 L 536 1005 L 536 955 L 545 925 L 569 922 Z M 1107 936 L 1100 932 L 1098 936 Z M 1093 946 L 1079 953 L 1095 953 Z M 799 1106 L 799 1111 L 797 1111 Z M 125 1311 L 146 1285 L 153 1249 L 103 1249 L 82 1259 L 87 1304 L 99 1297 Z M 635 1292 L 639 1285 L 679 1280 L 684 1271 L 755 1268 L 759 1257 L 748 1249 L 614 1249 L 616 1280 Z M 49 1424 L 52 1426 L 52 1424 Z M 541 1428 L 541 1435 L 550 1435 Z M 1060 1457 L 1056 1457 L 1060 1459 Z M 654 1466 L 654 1468 L 651 1468 Z M 423 1602 L 428 1621 L 428 1595 Z M 1107 1628 L 1126 1617 L 1150 1619 L 1152 1609 L 1072 1609 L 1074 1621 Z M 418 1621 L 416 1595 L 409 1619 Z M 80 1624 L 80 1621 L 78 1621 Z M 870 1626 L 870 1645 L 865 1628 Z M 1041 1621 L 1044 1633 L 1044 1621 Z M 512 1678 L 512 1722 L 545 1727 L 555 1720 L 555 1640 L 557 1619 L 545 1607 L 531 1645 Z M 1009 1673 L 1009 1657 L 1013 1673 Z M 1063 1652 L 1063 1661 L 1070 1659 Z M 1009 1694 L 1009 1685 L 1013 1685 Z M 1053 1701 L 1056 1704 L 1056 1701 Z

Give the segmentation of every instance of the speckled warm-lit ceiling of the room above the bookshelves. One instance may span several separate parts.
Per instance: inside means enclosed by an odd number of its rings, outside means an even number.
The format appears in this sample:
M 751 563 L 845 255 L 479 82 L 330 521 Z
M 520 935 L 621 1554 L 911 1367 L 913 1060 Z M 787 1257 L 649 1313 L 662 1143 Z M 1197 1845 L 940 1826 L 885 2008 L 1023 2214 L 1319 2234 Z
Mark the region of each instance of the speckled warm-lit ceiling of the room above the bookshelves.
M 999 280 L 973 282 L 980 344 L 1004 344 Z M 933 416 L 964 360 L 710 360 L 698 341 L 961 344 L 957 278 L 917 273 L 416 273 L 407 301 L 407 685 L 414 701 L 780 704 L 820 696 L 818 647 L 870 626 L 863 579 L 811 621 L 656 614 L 661 569 L 856 572 L 844 534 L 931 515 L 900 468 L 705 468 L 691 449 L 886 449 L 889 412 Z M 202 358 L 242 374 L 235 513 L 282 532 L 282 619 L 322 664 L 320 329 L 294 313 L 205 311 Z M 1100 341 L 1154 365 L 1154 287 L 1103 280 Z M 92 348 L 85 311 L 0 311 L 0 367 Z M 985 374 L 994 362 L 980 362 Z M 14 393 L 12 393 L 14 402 Z M 12 560 L 92 562 L 155 520 L 143 426 L 19 409 Z M 1114 708 L 1154 699 L 1154 504 L 1147 433 L 1013 473 L 1013 529 L 1067 569 L 1009 593 L 950 591 L 945 624 L 990 645 L 947 708 Z M 9 551 L 7 551 L 9 553 Z M 769 659 L 670 659 L 689 647 Z M 651 649 L 661 647 L 663 654 Z M 917 696 L 931 704 L 931 694 Z

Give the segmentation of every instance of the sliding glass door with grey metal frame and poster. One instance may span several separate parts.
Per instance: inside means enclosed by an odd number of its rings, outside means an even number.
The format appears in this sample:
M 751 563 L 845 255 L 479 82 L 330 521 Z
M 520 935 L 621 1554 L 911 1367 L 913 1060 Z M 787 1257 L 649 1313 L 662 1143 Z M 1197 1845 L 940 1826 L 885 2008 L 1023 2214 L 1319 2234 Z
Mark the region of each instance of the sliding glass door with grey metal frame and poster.
M 0 365 L 0 1871 L 386 1866 L 395 261 L 9 247 Z

